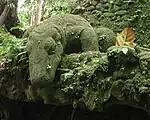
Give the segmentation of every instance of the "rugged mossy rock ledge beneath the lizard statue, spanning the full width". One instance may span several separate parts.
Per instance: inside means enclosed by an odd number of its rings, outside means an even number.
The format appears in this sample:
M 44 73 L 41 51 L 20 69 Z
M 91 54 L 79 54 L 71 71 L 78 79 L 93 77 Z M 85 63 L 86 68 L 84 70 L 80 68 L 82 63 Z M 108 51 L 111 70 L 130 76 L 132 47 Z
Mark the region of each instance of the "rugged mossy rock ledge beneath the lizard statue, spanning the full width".
M 0 94 L 22 101 L 43 99 L 59 106 L 85 104 L 89 109 L 100 109 L 102 104 L 111 103 L 113 96 L 116 102 L 119 100 L 138 106 L 137 103 L 149 97 L 141 97 L 150 92 L 149 54 L 149 49 L 120 46 L 110 47 L 107 53 L 88 51 L 65 55 L 57 69 L 53 86 L 38 88 L 38 96 L 30 90 L 32 86 L 27 81 L 28 73 L 24 74 L 27 69 L 17 68 L 14 71 L 10 67 L 14 74 L 10 78 L 11 71 L 4 70 Z M 148 108 L 147 102 L 139 106 L 145 107 L 145 104 Z

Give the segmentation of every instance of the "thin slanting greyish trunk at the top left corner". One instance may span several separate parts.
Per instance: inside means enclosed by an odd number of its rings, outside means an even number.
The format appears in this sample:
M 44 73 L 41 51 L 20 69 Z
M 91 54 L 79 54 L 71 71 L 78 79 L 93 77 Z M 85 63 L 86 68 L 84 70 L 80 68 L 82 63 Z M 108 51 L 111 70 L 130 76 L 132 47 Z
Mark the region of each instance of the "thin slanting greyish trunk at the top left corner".
M 7 18 L 7 15 L 9 13 L 10 7 L 8 5 L 5 5 L 5 8 L 2 12 L 2 14 L 0 15 L 0 26 L 2 26 L 4 24 L 4 21 Z

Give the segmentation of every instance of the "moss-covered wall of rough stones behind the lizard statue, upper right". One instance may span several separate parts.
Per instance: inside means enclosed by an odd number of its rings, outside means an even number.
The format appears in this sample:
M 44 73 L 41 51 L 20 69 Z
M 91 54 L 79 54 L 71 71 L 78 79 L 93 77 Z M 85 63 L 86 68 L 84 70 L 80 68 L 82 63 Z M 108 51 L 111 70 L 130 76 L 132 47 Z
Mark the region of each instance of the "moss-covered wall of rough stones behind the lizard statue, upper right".
M 150 2 L 148 0 L 77 0 L 73 14 L 80 14 L 94 27 L 115 33 L 127 25 L 135 29 L 136 43 L 150 47 Z

